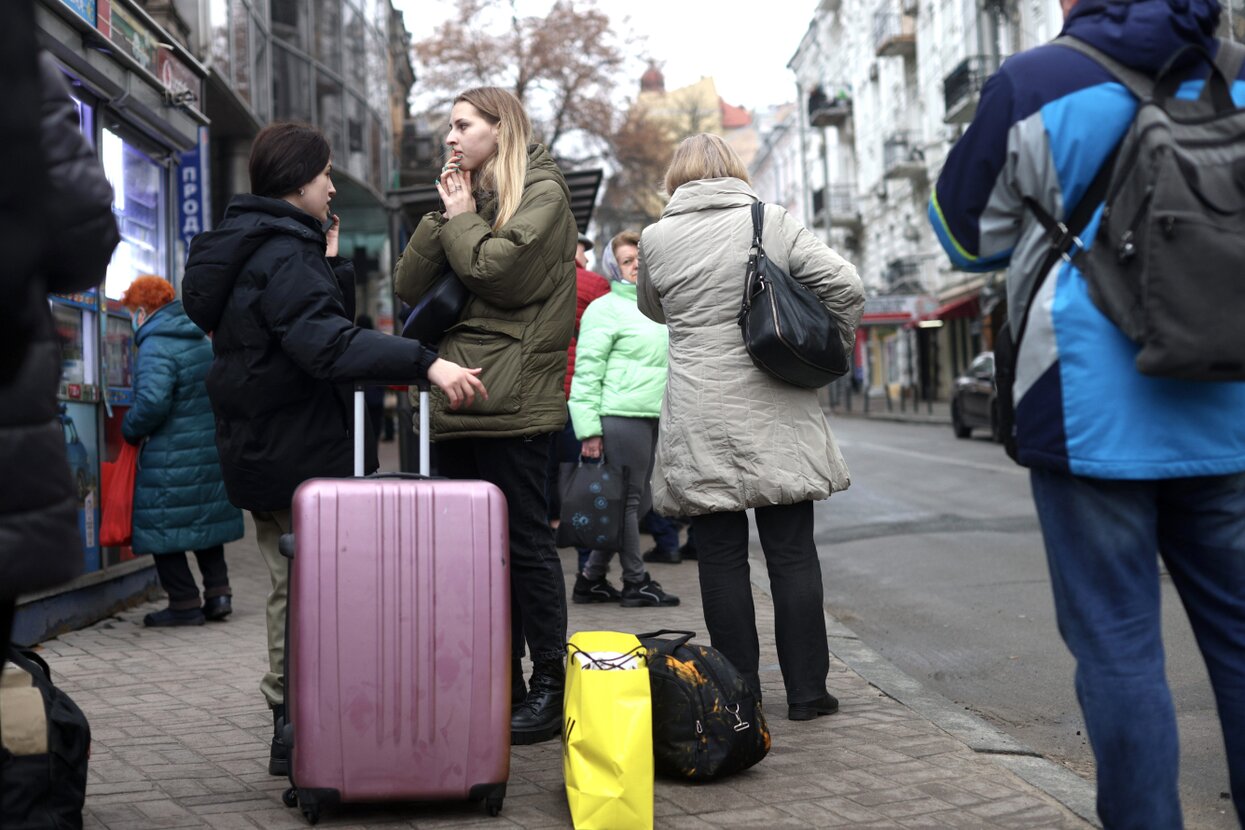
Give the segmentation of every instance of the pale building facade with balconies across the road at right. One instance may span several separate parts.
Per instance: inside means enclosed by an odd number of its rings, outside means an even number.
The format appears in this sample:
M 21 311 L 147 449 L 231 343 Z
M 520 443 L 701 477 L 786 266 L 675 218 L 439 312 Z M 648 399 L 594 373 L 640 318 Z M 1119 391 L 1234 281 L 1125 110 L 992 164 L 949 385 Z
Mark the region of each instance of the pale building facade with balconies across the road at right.
M 802 102 L 804 204 L 857 264 L 873 396 L 945 399 L 992 343 L 1002 274 L 950 270 L 930 189 L 985 80 L 1058 34 L 1057 0 L 823 0 L 789 62 Z

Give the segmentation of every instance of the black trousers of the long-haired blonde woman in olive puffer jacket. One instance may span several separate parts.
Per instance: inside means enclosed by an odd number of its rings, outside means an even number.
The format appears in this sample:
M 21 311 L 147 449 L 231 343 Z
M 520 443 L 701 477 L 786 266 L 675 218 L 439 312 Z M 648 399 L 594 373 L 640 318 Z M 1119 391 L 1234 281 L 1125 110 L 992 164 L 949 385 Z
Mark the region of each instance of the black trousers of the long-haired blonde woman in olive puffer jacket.
M 435 444 L 437 473 L 483 479 L 505 495 L 510 523 L 510 651 L 532 661 L 566 653 L 566 582 L 549 528 L 545 468 L 552 433 L 534 438 L 458 438 Z

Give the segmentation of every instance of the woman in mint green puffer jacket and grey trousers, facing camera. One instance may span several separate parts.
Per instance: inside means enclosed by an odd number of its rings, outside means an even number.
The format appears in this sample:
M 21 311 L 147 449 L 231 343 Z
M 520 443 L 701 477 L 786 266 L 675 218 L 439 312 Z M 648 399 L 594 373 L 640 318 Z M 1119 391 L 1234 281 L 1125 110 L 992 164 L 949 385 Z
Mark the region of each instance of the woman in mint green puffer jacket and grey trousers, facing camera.
M 574 602 L 621 601 L 625 607 L 679 605 L 644 569 L 640 516 L 651 504 L 649 477 L 657 443 L 657 418 L 666 393 L 666 327 L 636 307 L 640 234 L 624 230 L 610 240 L 603 261 L 610 292 L 593 301 L 579 322 L 570 419 L 586 458 L 609 459 L 630 470 L 622 524 L 621 594 L 605 580 L 610 553 L 594 550 L 575 579 Z

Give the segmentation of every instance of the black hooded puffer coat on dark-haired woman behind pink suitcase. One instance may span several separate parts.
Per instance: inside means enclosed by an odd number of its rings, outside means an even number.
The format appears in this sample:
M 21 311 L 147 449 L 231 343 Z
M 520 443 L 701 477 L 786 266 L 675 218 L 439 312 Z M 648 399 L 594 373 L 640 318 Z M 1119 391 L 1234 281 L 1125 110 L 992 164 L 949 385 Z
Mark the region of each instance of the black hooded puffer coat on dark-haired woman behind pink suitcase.
M 354 266 L 326 259 L 320 223 L 281 199 L 234 197 L 194 238 L 182 304 L 212 335 L 220 469 L 247 510 L 284 510 L 306 479 L 350 475 L 352 382 L 413 381 L 437 357 L 354 325 Z

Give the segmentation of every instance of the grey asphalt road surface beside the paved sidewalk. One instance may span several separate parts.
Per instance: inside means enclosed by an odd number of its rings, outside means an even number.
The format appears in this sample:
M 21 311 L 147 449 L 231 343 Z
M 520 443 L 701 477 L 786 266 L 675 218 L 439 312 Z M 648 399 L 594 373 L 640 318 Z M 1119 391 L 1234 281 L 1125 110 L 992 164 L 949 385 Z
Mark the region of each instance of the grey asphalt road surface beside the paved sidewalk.
M 926 688 L 1092 779 L 1026 472 L 950 427 L 832 426 L 852 488 L 818 505 L 829 612 Z M 1238 828 L 1205 666 L 1165 576 L 1163 609 L 1186 825 Z

